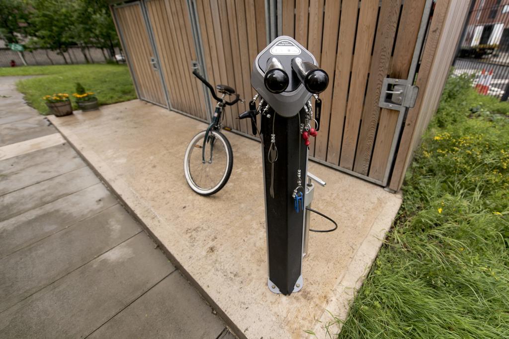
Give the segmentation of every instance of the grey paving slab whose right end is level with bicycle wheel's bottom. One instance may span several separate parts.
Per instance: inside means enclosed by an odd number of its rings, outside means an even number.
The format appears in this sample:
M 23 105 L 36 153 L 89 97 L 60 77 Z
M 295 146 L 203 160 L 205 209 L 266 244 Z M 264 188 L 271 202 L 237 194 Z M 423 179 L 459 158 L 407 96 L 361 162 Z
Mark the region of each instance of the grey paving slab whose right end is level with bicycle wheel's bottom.
M 117 204 L 102 183 L 0 222 L 0 258 Z

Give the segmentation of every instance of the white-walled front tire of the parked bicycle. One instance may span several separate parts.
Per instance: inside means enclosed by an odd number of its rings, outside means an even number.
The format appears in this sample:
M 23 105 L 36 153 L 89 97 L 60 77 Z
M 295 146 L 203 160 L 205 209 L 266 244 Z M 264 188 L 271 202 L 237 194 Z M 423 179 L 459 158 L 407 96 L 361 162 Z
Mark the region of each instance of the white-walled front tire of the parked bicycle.
M 233 168 L 233 150 L 232 146 L 230 145 L 230 141 L 228 141 L 227 137 L 225 137 L 221 132 L 219 131 L 210 131 L 209 134 L 212 134 L 215 138 L 217 138 L 218 141 L 220 141 L 220 144 L 224 147 L 225 150 L 225 158 L 226 158 L 226 164 L 224 166 L 224 173 L 220 177 L 217 184 L 215 184 L 213 187 L 206 188 L 201 187 L 200 183 L 197 183 L 195 179 L 193 179 L 193 171 L 190 169 L 190 161 L 193 158 L 192 152 L 195 150 L 195 148 L 199 148 L 199 156 L 200 158 L 202 153 L 202 147 L 196 146 L 203 144 L 203 139 L 205 138 L 206 131 L 202 131 L 198 134 L 196 134 L 191 141 L 189 142 L 189 145 L 187 146 L 185 155 L 184 155 L 184 175 L 187 181 L 187 184 L 189 187 L 197 194 L 203 195 L 203 196 L 210 196 L 217 192 L 219 192 L 224 185 L 228 182 L 228 179 L 230 179 L 230 175 L 232 174 L 232 168 Z M 209 145 L 210 143 L 207 143 Z M 214 144 L 214 147 L 215 144 Z M 216 149 L 216 153 L 217 153 Z M 196 159 L 194 157 L 194 162 L 196 162 Z M 208 162 L 206 162 L 208 163 Z M 203 163 L 203 165 L 207 166 L 206 163 Z

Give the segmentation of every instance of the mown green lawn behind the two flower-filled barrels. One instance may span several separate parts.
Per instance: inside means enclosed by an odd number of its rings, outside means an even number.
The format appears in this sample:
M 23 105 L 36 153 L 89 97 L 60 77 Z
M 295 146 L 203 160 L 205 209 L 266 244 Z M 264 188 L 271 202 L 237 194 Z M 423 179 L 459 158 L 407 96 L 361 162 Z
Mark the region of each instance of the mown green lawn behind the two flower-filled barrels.
M 134 86 L 125 65 L 56 65 L 0 68 L 0 76 L 41 75 L 19 80 L 16 85 L 25 100 L 42 114 L 48 113 L 42 97 L 53 93 L 75 93 L 76 82 L 93 91 L 100 105 L 136 99 Z M 77 109 L 73 101 L 73 108 Z

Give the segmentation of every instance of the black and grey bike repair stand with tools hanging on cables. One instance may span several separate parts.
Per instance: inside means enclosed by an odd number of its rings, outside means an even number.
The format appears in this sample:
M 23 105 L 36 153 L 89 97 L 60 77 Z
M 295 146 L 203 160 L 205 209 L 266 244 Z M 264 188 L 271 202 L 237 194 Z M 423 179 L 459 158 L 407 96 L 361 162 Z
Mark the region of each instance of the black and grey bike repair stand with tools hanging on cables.
M 289 295 L 302 288 L 305 203 L 310 203 L 307 145 L 319 125 L 318 105 L 315 119 L 309 99 L 327 84 L 313 54 L 287 36 L 276 38 L 254 60 L 251 85 L 261 100 L 258 110 L 251 101 L 241 118 L 251 117 L 255 131 L 256 114 L 262 114 L 268 286 L 274 293 Z

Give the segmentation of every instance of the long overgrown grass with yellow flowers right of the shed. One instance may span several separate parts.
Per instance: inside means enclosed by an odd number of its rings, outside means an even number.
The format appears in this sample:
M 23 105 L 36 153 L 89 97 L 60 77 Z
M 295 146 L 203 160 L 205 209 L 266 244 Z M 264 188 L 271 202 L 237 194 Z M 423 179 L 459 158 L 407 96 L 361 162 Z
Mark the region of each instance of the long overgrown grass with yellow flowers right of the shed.
M 449 78 L 338 337 L 509 338 L 508 112 Z

